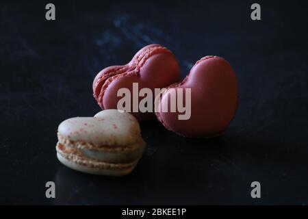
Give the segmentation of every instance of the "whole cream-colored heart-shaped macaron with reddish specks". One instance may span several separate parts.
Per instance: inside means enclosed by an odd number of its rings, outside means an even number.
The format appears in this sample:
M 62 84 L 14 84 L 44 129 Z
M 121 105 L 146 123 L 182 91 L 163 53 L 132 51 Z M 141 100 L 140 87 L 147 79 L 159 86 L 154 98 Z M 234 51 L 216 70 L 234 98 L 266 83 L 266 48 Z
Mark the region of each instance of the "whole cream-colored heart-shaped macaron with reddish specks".
M 59 125 L 57 138 L 57 158 L 62 164 L 96 175 L 129 174 L 146 146 L 138 120 L 118 110 L 68 118 Z

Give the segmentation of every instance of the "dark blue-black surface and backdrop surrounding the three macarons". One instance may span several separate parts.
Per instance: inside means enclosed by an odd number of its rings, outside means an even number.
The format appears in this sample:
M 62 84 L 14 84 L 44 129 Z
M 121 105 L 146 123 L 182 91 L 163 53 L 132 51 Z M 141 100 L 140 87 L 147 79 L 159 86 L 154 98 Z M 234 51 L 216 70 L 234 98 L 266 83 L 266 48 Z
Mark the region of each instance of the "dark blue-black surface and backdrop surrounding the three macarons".
M 308 204 L 305 1 L 0 3 L 0 203 Z M 142 123 L 146 153 L 126 177 L 85 175 L 57 161 L 57 125 L 100 111 L 92 80 L 146 44 L 177 56 L 184 77 L 205 55 L 228 60 L 240 105 L 212 140 Z M 45 197 L 55 181 L 56 198 Z M 251 198 L 251 182 L 261 198 Z

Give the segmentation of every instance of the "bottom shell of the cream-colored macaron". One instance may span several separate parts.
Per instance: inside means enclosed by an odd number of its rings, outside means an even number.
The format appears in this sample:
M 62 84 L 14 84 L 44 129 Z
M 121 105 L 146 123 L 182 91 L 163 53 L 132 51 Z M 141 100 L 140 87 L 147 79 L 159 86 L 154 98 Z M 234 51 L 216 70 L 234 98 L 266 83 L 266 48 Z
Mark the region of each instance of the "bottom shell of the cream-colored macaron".
M 75 149 L 74 152 L 67 152 L 66 148 L 63 144 L 57 144 L 57 159 L 73 170 L 77 170 L 79 172 L 84 172 L 92 175 L 108 175 L 108 176 L 124 176 L 128 175 L 133 168 L 138 164 L 138 159 L 133 162 L 128 163 L 109 163 L 102 162 L 97 159 L 92 159 L 87 157 L 79 151 Z

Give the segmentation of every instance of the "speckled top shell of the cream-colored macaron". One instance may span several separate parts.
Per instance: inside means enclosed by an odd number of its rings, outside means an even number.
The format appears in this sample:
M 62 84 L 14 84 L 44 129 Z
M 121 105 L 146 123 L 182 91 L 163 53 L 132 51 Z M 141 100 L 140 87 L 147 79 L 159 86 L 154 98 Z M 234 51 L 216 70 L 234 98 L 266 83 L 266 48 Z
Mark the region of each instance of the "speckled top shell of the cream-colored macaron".
M 118 110 L 104 110 L 94 117 L 76 117 L 64 120 L 58 127 L 60 142 L 79 142 L 79 147 L 99 149 L 107 146 L 138 146 L 140 127 L 131 114 Z

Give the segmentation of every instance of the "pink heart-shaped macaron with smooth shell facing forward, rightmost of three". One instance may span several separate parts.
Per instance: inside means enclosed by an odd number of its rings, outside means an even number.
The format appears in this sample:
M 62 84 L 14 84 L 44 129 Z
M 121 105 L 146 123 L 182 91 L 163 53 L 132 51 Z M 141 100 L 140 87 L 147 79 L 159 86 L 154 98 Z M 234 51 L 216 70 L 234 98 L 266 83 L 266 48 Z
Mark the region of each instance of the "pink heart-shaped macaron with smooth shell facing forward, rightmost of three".
M 170 105 L 171 90 L 190 88 L 190 118 L 180 120 L 179 110 L 163 112 Z M 176 92 L 176 96 L 177 96 Z M 169 130 L 181 136 L 211 138 L 219 136 L 235 115 L 238 107 L 238 81 L 229 62 L 218 56 L 198 60 L 183 81 L 174 83 L 157 96 L 158 120 Z M 186 101 L 186 103 L 190 103 Z M 185 100 L 184 100 L 185 102 Z

